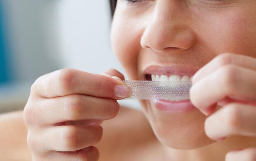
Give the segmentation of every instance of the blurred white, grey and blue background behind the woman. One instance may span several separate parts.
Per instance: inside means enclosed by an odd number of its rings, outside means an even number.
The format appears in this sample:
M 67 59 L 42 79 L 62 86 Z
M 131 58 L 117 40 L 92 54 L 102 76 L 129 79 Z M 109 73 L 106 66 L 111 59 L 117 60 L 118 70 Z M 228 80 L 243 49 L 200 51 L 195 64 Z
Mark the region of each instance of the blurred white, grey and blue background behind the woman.
M 36 78 L 57 69 L 123 73 L 110 29 L 108 0 L 1 0 L 0 113 L 22 110 Z

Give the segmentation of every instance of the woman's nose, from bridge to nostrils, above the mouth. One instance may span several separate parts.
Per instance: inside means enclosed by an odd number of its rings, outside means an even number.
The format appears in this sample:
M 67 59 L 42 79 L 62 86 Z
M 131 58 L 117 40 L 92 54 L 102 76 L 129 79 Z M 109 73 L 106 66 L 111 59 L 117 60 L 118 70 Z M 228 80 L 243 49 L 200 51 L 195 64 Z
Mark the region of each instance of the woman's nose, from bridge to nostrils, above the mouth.
M 185 50 L 193 46 L 194 34 L 188 24 L 188 13 L 180 0 L 159 0 L 152 11 L 140 44 L 156 52 Z M 149 18 L 150 19 L 150 18 Z

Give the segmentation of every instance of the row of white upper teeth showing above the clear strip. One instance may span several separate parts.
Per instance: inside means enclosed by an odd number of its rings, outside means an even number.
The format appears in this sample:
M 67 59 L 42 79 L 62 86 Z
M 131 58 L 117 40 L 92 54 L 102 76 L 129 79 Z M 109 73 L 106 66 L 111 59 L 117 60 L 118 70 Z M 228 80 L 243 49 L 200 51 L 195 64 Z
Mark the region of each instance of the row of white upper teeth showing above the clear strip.
M 152 74 L 151 78 L 153 81 L 192 81 L 192 76 L 179 76 L 179 75 L 158 75 Z

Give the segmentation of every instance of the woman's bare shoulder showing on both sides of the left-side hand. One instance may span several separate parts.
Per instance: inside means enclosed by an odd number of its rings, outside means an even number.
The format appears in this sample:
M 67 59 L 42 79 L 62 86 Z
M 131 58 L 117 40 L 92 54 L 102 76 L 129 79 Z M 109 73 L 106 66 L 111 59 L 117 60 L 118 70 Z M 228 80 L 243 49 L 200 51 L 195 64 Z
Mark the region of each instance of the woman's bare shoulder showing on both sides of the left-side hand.
M 122 107 L 119 115 L 102 123 L 104 128 L 100 160 L 128 159 L 136 147 L 147 146 L 156 140 L 154 133 L 140 110 Z M 27 127 L 22 111 L 0 114 L 0 160 L 30 161 L 31 153 L 26 143 Z M 142 153 L 140 149 L 140 153 Z

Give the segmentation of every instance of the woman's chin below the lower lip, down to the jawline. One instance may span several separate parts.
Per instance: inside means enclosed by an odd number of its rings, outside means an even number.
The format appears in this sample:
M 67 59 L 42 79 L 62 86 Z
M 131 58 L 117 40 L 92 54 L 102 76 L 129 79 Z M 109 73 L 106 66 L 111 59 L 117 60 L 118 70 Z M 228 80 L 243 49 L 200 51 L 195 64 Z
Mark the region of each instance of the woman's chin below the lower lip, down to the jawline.
M 181 113 L 159 110 L 152 101 L 142 101 L 143 111 L 158 140 L 168 147 L 191 150 L 215 141 L 204 132 L 206 116 L 194 109 Z

